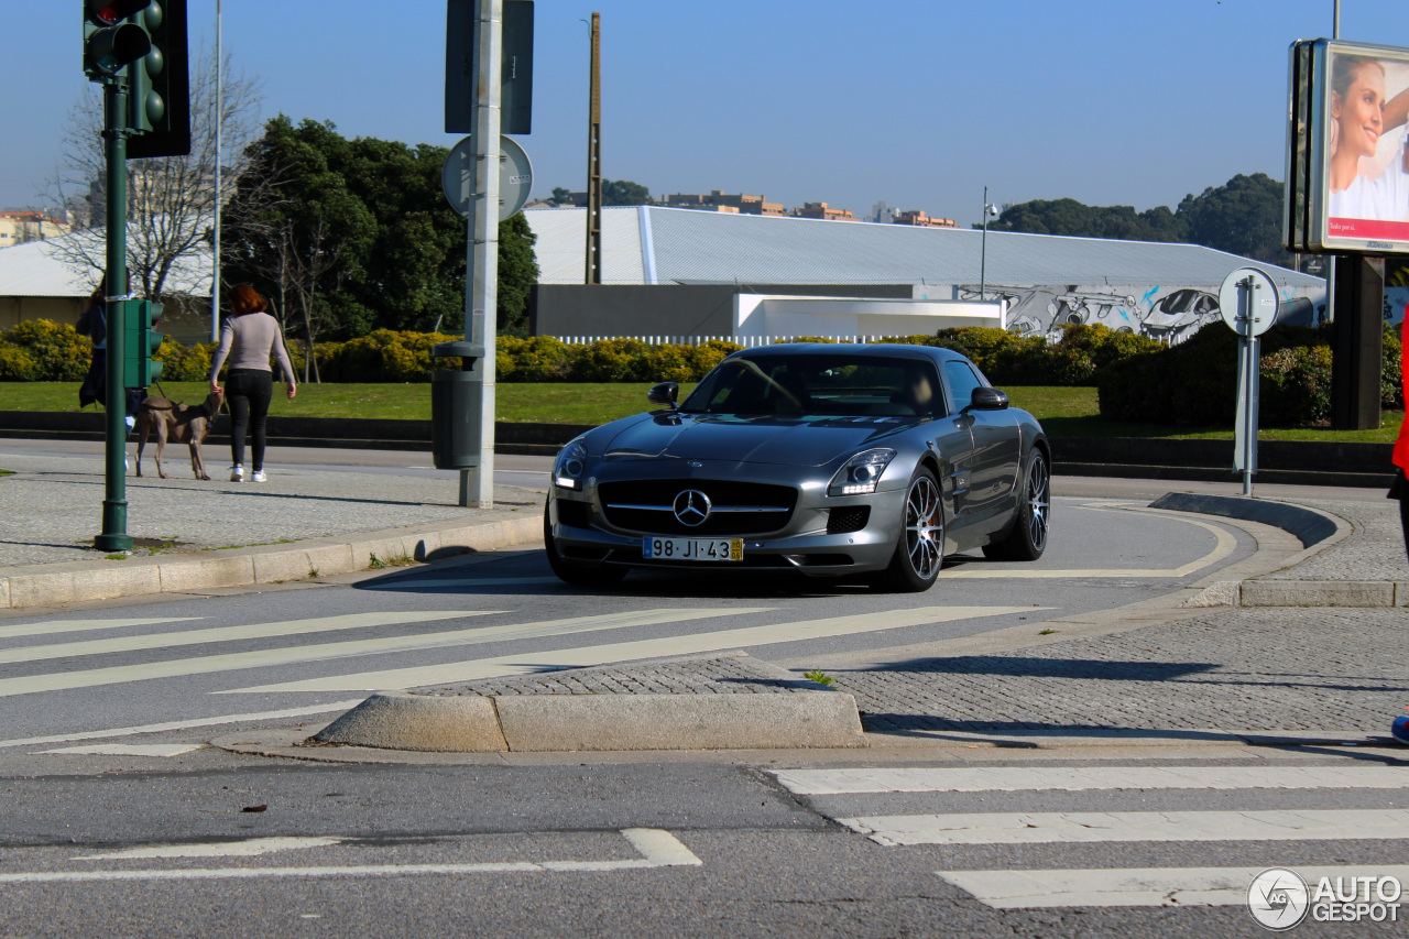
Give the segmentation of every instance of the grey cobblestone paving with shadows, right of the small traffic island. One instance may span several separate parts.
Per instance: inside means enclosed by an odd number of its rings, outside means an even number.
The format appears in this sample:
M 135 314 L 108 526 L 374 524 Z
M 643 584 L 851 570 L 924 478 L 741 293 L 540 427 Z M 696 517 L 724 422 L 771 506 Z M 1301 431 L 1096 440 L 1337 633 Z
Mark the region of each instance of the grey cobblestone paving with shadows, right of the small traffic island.
M 831 673 L 868 730 L 1382 730 L 1409 705 L 1394 609 L 1258 608 L 1002 656 Z

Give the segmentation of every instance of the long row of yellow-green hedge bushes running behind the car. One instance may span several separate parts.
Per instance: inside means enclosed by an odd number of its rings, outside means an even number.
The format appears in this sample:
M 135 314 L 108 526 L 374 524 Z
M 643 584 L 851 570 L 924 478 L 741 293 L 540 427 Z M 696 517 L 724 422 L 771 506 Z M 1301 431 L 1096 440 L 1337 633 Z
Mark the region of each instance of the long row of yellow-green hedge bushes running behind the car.
M 434 360 L 430 354 L 434 344 L 455 338 L 378 330 L 347 343 L 320 343 L 318 374 L 328 382 L 427 382 L 437 368 L 458 368 L 458 360 Z M 1102 416 L 1115 420 L 1186 426 L 1233 422 L 1237 337 L 1222 323 L 1169 348 L 1103 326 L 1069 326 L 1055 344 L 985 327 L 883 341 L 955 350 L 999 386 L 1096 385 Z M 496 344 L 496 367 L 500 382 L 693 382 L 738 348 L 721 341 L 650 345 L 640 340 L 568 345 L 548 336 L 504 336 Z M 204 381 L 214 350 L 214 343 L 187 347 L 168 336 L 156 354 L 165 365 L 162 376 Z M 302 375 L 307 350 L 290 343 L 289 352 Z M 92 354 L 92 343 L 72 326 L 25 321 L 0 330 L 0 381 L 80 381 Z M 1386 329 L 1381 396 L 1389 409 L 1403 407 L 1401 354 L 1398 330 Z M 1261 375 L 1261 417 L 1267 426 L 1329 417 L 1329 327 L 1270 330 L 1262 337 Z

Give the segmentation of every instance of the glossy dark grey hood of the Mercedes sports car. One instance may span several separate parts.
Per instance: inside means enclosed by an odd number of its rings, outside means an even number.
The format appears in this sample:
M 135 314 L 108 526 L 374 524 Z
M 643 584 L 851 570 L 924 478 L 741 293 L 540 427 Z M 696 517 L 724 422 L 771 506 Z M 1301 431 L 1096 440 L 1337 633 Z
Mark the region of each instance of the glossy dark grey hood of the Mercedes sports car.
M 607 460 L 723 460 L 821 467 L 929 417 L 644 416 L 614 433 Z

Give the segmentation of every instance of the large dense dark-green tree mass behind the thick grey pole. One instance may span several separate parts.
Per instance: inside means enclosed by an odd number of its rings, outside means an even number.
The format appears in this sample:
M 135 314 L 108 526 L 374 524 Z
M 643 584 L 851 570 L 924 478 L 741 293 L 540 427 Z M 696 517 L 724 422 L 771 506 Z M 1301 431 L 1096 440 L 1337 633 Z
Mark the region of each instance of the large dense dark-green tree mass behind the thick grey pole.
M 227 279 L 254 283 L 280 309 L 311 297 L 300 326 L 310 341 L 462 330 L 465 220 L 441 193 L 447 152 L 348 140 L 330 123 L 271 120 L 237 183 L 237 209 L 256 195 L 262 202 L 225 240 Z M 521 329 L 537 276 L 527 223 L 500 226 L 500 323 Z

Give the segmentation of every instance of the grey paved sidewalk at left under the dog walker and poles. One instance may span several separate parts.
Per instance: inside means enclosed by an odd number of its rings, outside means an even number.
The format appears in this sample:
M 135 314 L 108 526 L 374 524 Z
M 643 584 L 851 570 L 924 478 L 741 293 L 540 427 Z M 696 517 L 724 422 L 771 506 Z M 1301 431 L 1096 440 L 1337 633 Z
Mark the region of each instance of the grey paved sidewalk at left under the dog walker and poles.
M 166 451 L 170 479 L 127 478 L 128 534 L 175 540 L 176 551 L 273 544 L 410 524 L 471 520 L 482 512 L 457 505 L 455 478 L 390 472 L 334 472 L 271 467 L 269 482 L 192 478 L 185 447 Z M 211 475 L 227 472 L 207 447 Z M 148 453 L 148 461 L 151 454 Z M 211 461 L 214 462 L 211 464 Z M 101 461 L 0 454 L 15 471 L 0 478 L 0 568 L 101 558 L 92 548 L 103 508 Z M 496 509 L 541 512 L 542 495 L 496 489 Z

